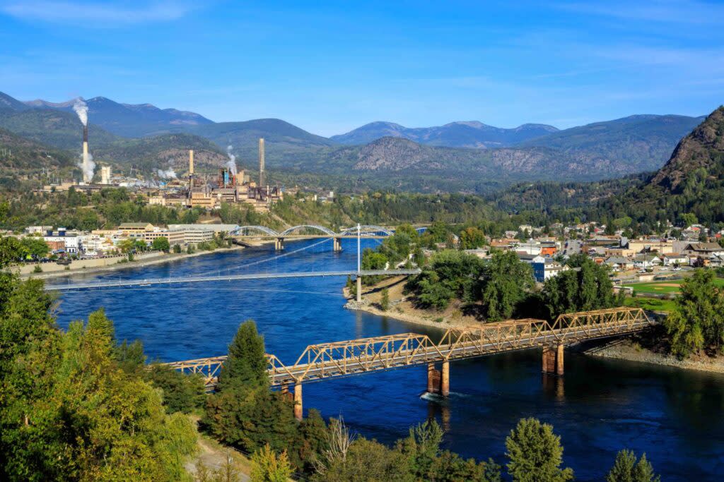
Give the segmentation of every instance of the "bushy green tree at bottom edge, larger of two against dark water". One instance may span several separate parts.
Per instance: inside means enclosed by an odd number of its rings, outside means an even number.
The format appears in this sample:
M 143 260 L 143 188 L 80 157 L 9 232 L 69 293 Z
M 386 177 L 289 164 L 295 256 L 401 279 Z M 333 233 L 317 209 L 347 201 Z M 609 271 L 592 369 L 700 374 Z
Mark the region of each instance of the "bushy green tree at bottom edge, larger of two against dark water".
M 553 427 L 535 418 L 523 418 L 505 439 L 508 473 L 515 482 L 573 480 L 571 468 L 561 469 L 563 447 Z

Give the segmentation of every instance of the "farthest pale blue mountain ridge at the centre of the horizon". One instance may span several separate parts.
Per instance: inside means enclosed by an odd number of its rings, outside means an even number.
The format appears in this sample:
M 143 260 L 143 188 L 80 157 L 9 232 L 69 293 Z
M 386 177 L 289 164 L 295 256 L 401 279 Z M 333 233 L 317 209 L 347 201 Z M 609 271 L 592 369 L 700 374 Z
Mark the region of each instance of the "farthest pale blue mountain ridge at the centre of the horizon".
M 502 129 L 478 121 L 458 121 L 444 126 L 418 128 L 392 122 L 372 122 L 330 139 L 345 145 L 361 145 L 382 137 L 402 137 L 425 145 L 486 149 L 514 145 L 557 130 L 543 124 L 523 124 L 515 129 Z

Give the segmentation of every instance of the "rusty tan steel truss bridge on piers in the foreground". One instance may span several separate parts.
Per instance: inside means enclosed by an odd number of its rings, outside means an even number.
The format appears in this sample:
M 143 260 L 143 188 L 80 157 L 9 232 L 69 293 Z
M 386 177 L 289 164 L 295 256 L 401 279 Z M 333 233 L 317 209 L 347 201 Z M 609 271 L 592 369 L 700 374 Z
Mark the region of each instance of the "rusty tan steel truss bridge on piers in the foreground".
M 613 308 L 562 314 L 554 322 L 542 319 L 512 319 L 497 323 L 481 323 L 469 327 L 450 328 L 439 342 L 427 335 L 403 333 L 309 345 L 291 365 L 268 354 L 269 379 L 274 387 L 300 387 L 303 382 L 362 374 L 370 371 L 396 369 L 427 363 L 476 358 L 526 348 L 544 348 L 544 371 L 563 374 L 563 346 L 585 340 L 627 335 L 654 324 L 643 309 Z M 546 353 L 553 353 L 553 369 L 546 369 Z M 560 356 L 556 360 L 555 356 Z M 226 356 L 165 363 L 187 374 L 200 374 L 206 387 L 212 389 Z M 556 361 L 560 369 L 556 369 Z M 449 367 L 449 364 L 447 364 Z M 449 369 L 449 368 L 448 368 Z M 430 386 L 430 382 L 429 382 Z M 300 390 L 300 389 L 299 389 Z M 445 394 L 445 390 L 442 390 Z M 296 400 L 296 398 L 295 398 Z M 301 404 L 301 395 L 298 403 Z

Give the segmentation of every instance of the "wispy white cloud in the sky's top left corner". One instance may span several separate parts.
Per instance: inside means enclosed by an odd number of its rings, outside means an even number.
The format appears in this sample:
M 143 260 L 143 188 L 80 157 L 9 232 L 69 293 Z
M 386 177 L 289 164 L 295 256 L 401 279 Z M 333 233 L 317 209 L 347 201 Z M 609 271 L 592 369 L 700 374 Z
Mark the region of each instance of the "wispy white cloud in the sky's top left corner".
M 126 7 L 70 1 L 13 1 L 0 6 L 0 12 L 21 20 L 66 23 L 85 27 L 135 25 L 177 20 L 192 7 L 184 2 L 151 2 Z

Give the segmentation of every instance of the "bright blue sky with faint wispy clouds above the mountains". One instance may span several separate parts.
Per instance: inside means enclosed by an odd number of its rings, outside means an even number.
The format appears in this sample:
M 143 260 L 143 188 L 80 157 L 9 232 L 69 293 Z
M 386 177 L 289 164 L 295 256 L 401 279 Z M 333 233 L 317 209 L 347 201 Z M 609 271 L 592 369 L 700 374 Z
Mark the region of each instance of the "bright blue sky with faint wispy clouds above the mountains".
M 724 2 L 0 0 L 0 91 L 321 135 L 560 128 L 724 103 Z

